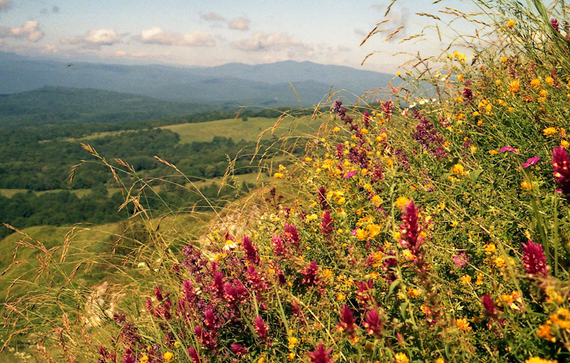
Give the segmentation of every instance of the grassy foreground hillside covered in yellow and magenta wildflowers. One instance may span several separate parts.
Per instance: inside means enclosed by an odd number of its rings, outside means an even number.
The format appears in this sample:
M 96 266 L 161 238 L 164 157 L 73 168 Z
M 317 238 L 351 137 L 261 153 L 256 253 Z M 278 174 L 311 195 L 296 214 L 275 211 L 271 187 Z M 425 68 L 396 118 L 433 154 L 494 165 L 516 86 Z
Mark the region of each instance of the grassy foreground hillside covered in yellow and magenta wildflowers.
M 63 268 L 73 239 L 21 243 L 41 268 L 6 301 L 6 336 L 57 362 L 566 361 L 566 5 L 475 4 L 424 14 L 442 37 L 446 16 L 477 31 L 408 63 L 390 98 L 309 110 L 315 134 L 260 165 L 274 183 L 211 203 L 202 229 L 163 226 L 148 181 L 122 186 L 140 228 L 84 261 L 112 266 L 105 285 Z

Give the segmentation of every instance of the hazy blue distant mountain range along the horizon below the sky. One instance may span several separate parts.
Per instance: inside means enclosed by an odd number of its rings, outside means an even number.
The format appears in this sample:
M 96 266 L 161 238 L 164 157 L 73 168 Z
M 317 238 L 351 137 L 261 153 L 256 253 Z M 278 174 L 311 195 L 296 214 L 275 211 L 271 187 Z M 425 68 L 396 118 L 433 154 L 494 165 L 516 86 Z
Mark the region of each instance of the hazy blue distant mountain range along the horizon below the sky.
M 94 88 L 168 101 L 239 103 L 267 107 L 311 106 L 330 90 L 343 95 L 383 88 L 393 75 L 339 65 L 284 61 L 214 67 L 63 63 L 0 52 L 0 93 L 21 93 L 44 85 Z

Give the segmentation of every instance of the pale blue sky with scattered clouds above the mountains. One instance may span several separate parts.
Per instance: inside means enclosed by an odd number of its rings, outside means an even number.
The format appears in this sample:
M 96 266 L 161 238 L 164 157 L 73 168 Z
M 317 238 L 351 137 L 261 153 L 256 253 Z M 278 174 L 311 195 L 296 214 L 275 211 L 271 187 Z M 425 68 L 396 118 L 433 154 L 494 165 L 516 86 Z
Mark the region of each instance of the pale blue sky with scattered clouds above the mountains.
M 393 72 L 447 42 L 400 43 L 442 4 L 398 0 L 0 0 L 0 51 L 62 61 L 209 66 L 312 61 Z M 445 5 L 465 9 L 460 0 Z M 376 23 L 385 32 L 361 46 Z M 404 28 L 388 42 L 384 39 Z M 369 53 L 377 52 L 362 61 Z

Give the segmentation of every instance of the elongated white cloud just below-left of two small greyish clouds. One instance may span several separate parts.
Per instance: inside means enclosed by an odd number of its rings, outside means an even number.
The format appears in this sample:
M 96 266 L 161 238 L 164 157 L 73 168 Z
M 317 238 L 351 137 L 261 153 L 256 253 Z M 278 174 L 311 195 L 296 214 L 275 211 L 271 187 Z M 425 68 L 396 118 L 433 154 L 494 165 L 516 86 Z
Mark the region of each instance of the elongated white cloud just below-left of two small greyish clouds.
M 148 44 L 162 44 L 165 46 L 214 46 L 214 38 L 205 31 L 192 31 L 190 33 L 172 33 L 155 26 L 140 31 L 138 40 Z

